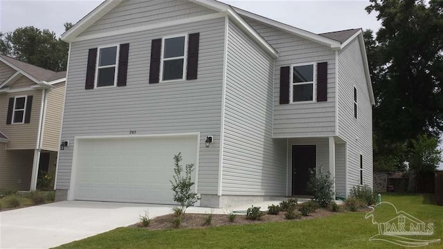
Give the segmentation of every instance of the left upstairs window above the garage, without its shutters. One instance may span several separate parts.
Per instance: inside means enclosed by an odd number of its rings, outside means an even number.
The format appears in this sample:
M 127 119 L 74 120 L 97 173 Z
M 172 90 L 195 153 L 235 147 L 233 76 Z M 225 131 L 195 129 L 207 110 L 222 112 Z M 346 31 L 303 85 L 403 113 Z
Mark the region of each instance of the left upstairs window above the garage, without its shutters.
M 99 48 L 96 87 L 116 86 L 118 46 Z

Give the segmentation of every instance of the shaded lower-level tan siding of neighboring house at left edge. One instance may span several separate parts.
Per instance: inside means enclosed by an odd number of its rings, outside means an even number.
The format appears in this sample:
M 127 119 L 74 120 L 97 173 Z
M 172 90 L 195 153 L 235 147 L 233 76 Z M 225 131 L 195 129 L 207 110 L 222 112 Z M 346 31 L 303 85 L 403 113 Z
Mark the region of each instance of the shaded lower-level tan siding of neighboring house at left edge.
M 34 151 L 5 150 L 6 145 L 0 142 L 0 189 L 29 190 Z

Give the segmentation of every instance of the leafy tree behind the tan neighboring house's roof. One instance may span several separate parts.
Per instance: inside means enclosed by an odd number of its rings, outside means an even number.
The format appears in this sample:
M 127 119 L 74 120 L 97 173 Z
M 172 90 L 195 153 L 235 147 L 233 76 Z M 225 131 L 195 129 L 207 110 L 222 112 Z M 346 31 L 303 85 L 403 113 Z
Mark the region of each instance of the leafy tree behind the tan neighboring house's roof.
M 72 26 L 64 24 L 65 30 Z M 12 33 L 0 33 L 0 53 L 51 71 L 66 70 L 68 50 L 69 44 L 48 29 L 27 26 Z

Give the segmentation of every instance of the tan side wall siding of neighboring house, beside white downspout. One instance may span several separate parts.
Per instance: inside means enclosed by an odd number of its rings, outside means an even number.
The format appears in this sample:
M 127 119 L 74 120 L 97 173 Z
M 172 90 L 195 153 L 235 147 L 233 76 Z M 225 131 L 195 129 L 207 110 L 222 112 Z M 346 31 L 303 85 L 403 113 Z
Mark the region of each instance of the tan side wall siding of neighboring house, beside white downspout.
M 55 88 L 46 95 L 46 115 L 43 127 L 42 149 L 57 151 L 63 113 L 64 82 L 55 84 Z

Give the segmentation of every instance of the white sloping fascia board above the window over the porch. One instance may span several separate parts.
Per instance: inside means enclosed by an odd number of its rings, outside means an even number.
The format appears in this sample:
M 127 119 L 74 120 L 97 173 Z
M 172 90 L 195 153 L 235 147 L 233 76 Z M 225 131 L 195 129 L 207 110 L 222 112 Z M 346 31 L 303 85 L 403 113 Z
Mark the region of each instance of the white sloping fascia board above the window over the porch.
M 256 15 L 254 13 L 251 13 L 246 10 L 239 9 L 239 8 L 235 8 L 235 11 L 237 13 L 239 13 L 239 15 L 243 15 L 243 16 L 251 18 L 255 21 L 259 21 L 263 24 L 273 26 L 274 28 L 278 28 L 280 30 L 283 30 L 284 32 L 291 33 L 293 35 L 297 35 L 297 36 L 305 38 L 305 39 L 309 39 L 312 42 L 317 42 L 319 44 L 329 46 L 330 48 L 335 48 L 335 49 L 341 48 L 341 43 L 334 40 L 334 39 L 329 39 L 327 37 L 323 37 L 321 35 L 317 35 L 317 34 L 309 32 L 309 31 L 302 30 L 300 28 L 296 28 L 296 27 L 293 27 L 293 26 L 290 26 L 287 24 L 282 24 L 278 21 L 274 21 L 272 19 L 262 17 L 260 15 Z

